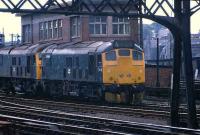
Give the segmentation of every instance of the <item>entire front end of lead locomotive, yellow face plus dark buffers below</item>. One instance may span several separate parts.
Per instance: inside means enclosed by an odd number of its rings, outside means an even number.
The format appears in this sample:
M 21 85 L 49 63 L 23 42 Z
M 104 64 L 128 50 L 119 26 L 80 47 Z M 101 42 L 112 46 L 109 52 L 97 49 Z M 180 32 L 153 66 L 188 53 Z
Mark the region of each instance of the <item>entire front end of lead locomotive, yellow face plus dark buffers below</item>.
M 142 50 L 116 48 L 102 54 L 105 100 L 137 103 L 143 98 L 145 62 Z

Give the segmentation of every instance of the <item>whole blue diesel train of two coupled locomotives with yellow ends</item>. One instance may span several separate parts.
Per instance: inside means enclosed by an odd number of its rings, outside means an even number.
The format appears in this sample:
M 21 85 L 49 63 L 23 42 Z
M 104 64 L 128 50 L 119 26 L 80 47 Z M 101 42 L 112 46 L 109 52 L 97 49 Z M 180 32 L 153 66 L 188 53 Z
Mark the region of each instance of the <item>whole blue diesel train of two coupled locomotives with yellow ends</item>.
M 132 103 L 141 100 L 144 82 L 144 52 L 133 41 L 0 48 L 0 87 L 6 93 L 23 91 Z

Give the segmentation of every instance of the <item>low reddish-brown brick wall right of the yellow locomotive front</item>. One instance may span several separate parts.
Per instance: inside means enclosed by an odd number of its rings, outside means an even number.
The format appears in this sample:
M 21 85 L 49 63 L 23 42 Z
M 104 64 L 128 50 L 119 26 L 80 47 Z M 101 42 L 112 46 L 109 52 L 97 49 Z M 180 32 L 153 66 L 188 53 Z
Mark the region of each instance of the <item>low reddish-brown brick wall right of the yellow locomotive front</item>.
M 160 66 L 160 87 L 167 88 L 171 85 L 171 74 L 173 70 L 169 66 Z M 146 87 L 156 87 L 157 68 L 156 65 L 146 65 L 145 69 Z

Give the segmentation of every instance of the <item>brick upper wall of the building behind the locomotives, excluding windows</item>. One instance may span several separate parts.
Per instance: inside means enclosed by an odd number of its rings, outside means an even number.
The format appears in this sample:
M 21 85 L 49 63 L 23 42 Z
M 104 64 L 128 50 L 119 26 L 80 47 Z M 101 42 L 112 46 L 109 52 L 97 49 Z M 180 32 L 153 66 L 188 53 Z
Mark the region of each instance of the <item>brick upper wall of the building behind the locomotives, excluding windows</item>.
M 130 34 L 129 35 L 114 35 L 112 34 L 112 17 L 107 17 L 107 34 L 106 35 L 91 35 L 89 32 L 89 16 L 80 16 L 80 37 L 71 37 L 71 17 L 74 16 L 64 16 L 64 15 L 49 15 L 49 14 L 35 14 L 35 15 L 21 15 L 22 28 L 24 25 L 31 25 L 31 41 L 28 44 L 37 43 L 59 43 L 59 42 L 72 42 L 72 41 L 109 41 L 109 40 L 134 40 L 138 43 L 139 38 L 139 24 L 137 19 L 130 18 Z M 62 20 L 62 38 L 43 40 L 39 39 L 39 23 L 52 21 L 52 20 Z M 23 31 L 22 31 L 23 32 Z M 23 35 L 23 34 L 22 34 Z M 22 37 L 23 38 L 23 37 Z

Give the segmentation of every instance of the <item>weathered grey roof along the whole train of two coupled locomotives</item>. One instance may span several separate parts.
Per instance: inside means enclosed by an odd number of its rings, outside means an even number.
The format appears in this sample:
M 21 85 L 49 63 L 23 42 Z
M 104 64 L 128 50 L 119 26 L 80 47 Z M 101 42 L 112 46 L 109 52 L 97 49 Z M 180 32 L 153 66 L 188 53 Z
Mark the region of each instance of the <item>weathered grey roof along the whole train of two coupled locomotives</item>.
M 138 51 L 142 49 L 133 41 L 112 40 L 112 41 L 84 41 L 65 43 L 46 43 L 22 46 L 7 46 L 0 49 L 0 54 L 27 55 L 42 51 L 43 54 L 87 54 L 102 53 L 116 48 L 133 48 Z

